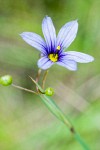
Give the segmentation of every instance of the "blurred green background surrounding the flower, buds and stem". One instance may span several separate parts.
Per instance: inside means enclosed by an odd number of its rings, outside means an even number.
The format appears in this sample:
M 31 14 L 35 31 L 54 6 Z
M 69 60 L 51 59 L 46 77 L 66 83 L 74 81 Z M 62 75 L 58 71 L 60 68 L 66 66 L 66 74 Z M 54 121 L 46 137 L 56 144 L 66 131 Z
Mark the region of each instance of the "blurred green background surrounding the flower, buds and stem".
M 39 52 L 20 33 L 43 36 L 41 22 L 52 18 L 57 32 L 78 19 L 77 38 L 68 50 L 94 56 L 71 72 L 54 65 L 46 87 L 55 89 L 58 106 L 69 115 L 91 150 L 100 149 L 100 0 L 0 0 L 0 76 L 10 74 L 13 83 L 33 89 Z M 40 78 L 40 83 L 42 81 Z M 24 91 L 0 85 L 0 150 L 82 150 L 66 127 L 41 100 Z

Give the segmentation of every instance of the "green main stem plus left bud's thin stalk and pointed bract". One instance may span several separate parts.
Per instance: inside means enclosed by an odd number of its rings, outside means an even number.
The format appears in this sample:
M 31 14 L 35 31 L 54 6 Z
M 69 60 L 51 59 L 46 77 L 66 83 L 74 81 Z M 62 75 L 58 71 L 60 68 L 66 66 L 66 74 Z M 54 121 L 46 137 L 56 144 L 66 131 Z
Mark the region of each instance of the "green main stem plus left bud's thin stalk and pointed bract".
M 40 85 L 34 80 L 32 79 L 32 77 L 30 77 L 31 80 L 36 84 L 36 86 L 38 87 L 38 89 L 41 91 L 41 93 L 44 93 L 44 90 L 40 87 Z M 40 98 L 42 99 L 42 101 L 44 102 L 44 104 L 48 107 L 48 109 L 61 121 L 63 122 L 69 129 L 69 131 L 74 135 L 74 138 L 81 144 L 81 146 L 83 147 L 84 150 L 90 150 L 89 147 L 87 146 L 87 144 L 83 141 L 83 139 L 80 137 L 80 135 L 76 132 L 76 130 L 74 129 L 71 121 L 69 120 L 68 117 L 65 116 L 65 114 L 61 111 L 61 109 L 56 105 L 56 103 L 53 101 L 53 99 L 51 99 L 50 97 L 46 96 L 45 94 L 39 94 L 36 93 L 35 91 L 17 86 L 12 84 L 12 86 L 27 91 L 27 92 L 31 92 L 34 94 L 37 94 L 40 96 Z

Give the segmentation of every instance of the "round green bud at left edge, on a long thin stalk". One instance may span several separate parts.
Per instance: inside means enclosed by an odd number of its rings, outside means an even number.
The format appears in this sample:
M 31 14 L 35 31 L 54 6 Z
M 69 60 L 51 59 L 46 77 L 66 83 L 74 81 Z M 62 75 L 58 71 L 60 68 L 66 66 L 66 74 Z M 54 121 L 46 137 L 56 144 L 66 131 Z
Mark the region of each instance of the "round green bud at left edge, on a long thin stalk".
M 8 86 L 12 84 L 12 76 L 10 75 L 5 75 L 0 77 L 0 84 L 4 85 L 4 86 Z

